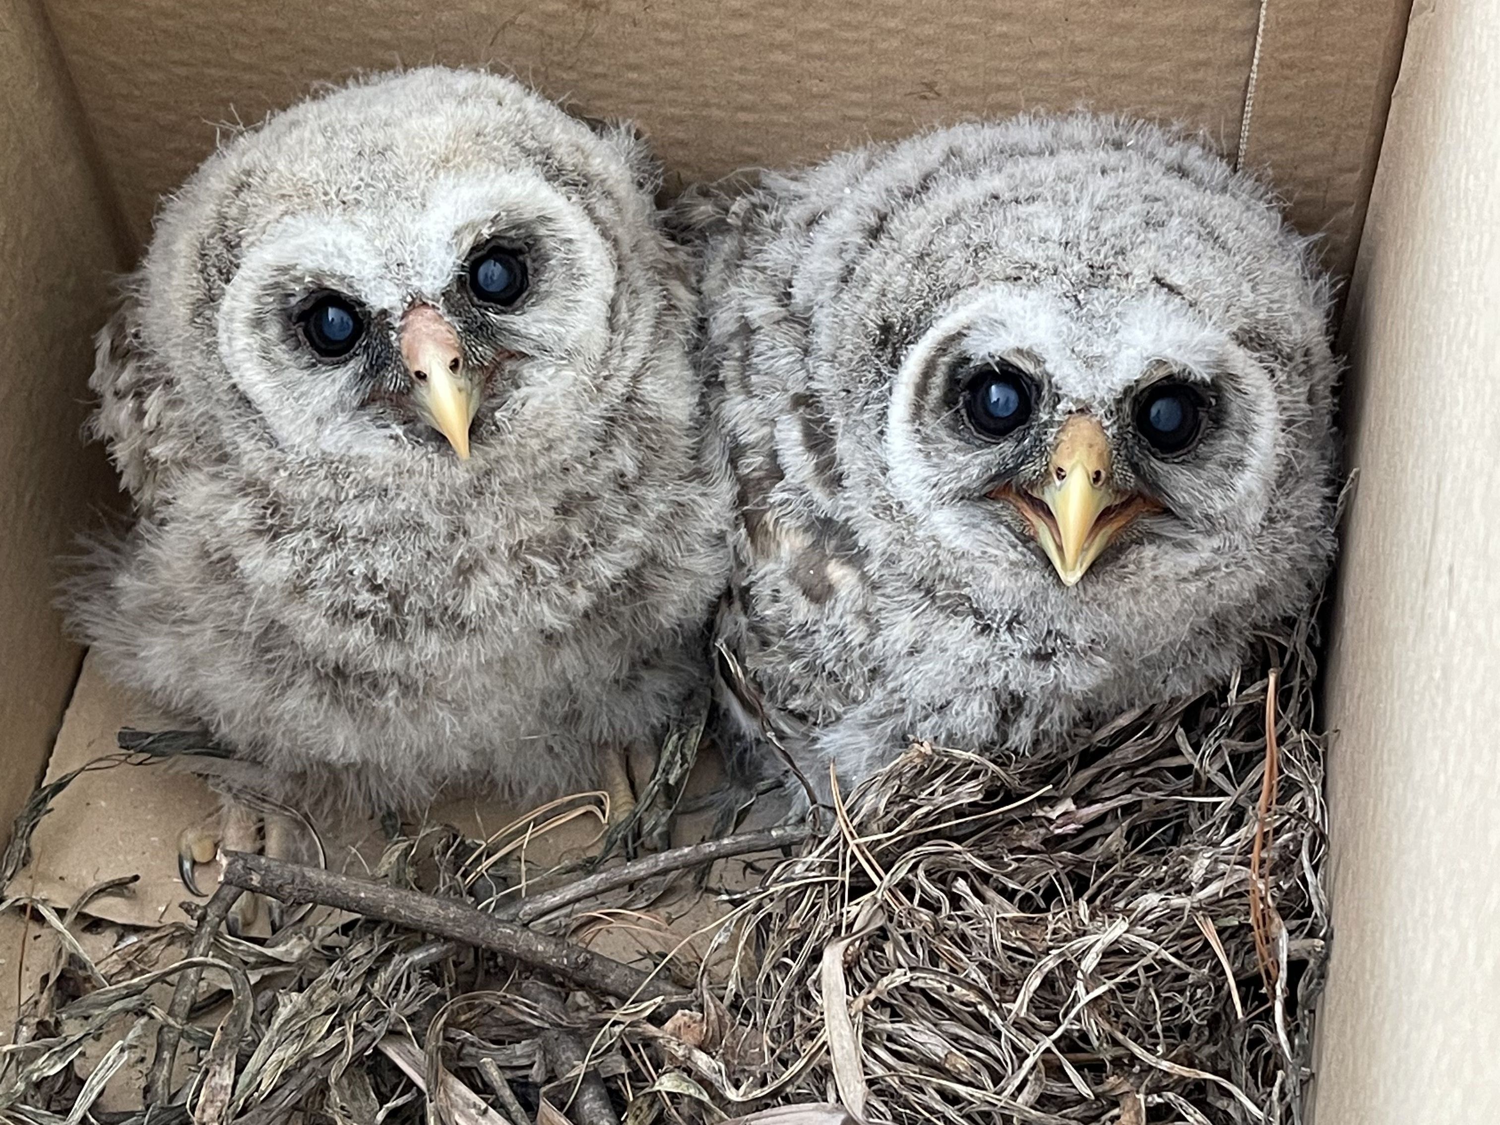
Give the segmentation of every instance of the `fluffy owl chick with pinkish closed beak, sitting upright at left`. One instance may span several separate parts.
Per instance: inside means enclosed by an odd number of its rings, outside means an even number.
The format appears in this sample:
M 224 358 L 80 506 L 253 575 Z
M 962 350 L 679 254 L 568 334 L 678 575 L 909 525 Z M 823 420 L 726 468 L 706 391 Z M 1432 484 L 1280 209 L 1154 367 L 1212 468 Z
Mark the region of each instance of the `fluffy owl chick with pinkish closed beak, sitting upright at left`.
M 138 524 L 75 621 L 112 675 L 298 802 L 532 800 L 652 746 L 706 680 L 730 496 L 656 177 L 446 69 L 212 156 L 99 342 Z

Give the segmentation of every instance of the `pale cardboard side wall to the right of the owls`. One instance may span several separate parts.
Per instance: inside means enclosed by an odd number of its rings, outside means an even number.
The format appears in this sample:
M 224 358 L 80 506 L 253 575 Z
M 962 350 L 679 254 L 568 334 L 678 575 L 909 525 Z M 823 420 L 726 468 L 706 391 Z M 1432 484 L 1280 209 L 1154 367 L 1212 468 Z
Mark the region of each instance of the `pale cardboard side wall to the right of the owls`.
M 1500 1120 L 1497 60 L 1418 4 L 1350 298 L 1317 1125 Z

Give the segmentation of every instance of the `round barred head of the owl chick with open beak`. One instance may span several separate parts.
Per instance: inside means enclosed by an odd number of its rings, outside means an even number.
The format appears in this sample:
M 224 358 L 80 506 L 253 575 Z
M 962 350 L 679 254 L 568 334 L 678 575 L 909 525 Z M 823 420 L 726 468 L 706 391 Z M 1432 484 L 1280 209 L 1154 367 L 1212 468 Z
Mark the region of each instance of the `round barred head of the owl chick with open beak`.
M 740 465 L 752 536 L 801 507 L 852 528 L 867 573 L 1110 658 L 1120 636 L 1160 651 L 1164 628 L 1311 596 L 1332 552 L 1329 291 L 1251 177 L 1152 126 L 1020 118 L 726 208 L 705 300 L 741 450 L 762 424 L 746 400 L 772 404 L 774 465 Z

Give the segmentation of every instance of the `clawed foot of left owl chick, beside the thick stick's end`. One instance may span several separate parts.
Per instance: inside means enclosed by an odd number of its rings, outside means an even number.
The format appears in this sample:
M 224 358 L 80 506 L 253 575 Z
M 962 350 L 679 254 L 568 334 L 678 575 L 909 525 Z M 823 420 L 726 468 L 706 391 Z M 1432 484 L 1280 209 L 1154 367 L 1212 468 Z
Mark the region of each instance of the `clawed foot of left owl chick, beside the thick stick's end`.
M 183 886 L 202 898 L 196 868 L 214 864 L 218 874 L 222 874 L 230 852 L 264 852 L 274 860 L 322 864 L 322 844 L 316 832 L 294 810 L 278 810 L 258 802 L 252 807 L 225 796 L 219 812 L 184 828 L 177 837 L 177 874 Z M 274 933 L 285 922 L 284 908 L 279 902 L 268 900 L 266 914 Z M 260 915 L 261 896 L 242 894 L 225 920 L 225 928 L 238 938 L 250 932 Z

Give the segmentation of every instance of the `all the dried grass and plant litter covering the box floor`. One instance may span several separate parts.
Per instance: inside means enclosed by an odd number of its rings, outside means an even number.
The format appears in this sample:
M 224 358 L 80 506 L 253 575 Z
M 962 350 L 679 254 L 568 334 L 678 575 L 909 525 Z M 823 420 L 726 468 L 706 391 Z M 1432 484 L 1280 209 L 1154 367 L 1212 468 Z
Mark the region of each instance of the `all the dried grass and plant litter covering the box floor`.
M 315 914 L 268 944 L 204 927 L 188 960 L 184 927 L 99 962 L 63 940 L 3 1059 L 0 1116 L 144 1124 L 94 1102 L 165 1026 L 196 1065 L 158 1076 L 153 1124 L 776 1106 L 806 1107 L 786 1122 L 1300 1122 L 1329 936 L 1308 628 L 1268 638 L 1227 692 L 1066 750 L 914 747 L 726 896 L 702 958 L 663 958 L 660 980 L 696 986 L 686 1005 L 567 993 L 548 984 L 566 975 L 368 918 Z M 440 832 L 396 842 L 378 874 L 504 910 L 498 867 Z M 666 892 L 656 878 L 530 924 L 567 934 Z M 164 988 L 194 966 L 196 1020 L 177 1023 Z M 81 1066 L 100 1038 L 118 1046 Z

